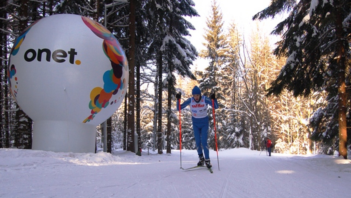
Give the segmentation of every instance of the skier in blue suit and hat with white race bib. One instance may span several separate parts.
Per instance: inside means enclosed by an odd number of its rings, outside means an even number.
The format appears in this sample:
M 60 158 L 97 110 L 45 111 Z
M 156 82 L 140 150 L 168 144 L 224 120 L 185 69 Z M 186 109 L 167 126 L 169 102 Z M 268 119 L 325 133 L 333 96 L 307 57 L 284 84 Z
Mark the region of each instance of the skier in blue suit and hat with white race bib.
M 211 168 L 210 155 L 207 146 L 207 133 L 208 133 L 208 116 L 207 116 L 207 105 L 212 106 L 212 100 L 214 101 L 214 108 L 218 109 L 218 102 L 215 94 L 211 94 L 211 99 L 201 95 L 201 90 L 198 86 L 195 86 L 192 90 L 192 97 L 188 98 L 183 104 L 180 105 L 180 109 L 184 109 L 190 105 L 192 114 L 193 130 L 196 143 L 196 149 L 199 155 L 198 166 L 203 166 L 206 163 L 207 168 Z M 181 94 L 176 95 L 177 98 L 177 110 L 179 111 L 179 99 Z M 204 149 L 204 152 L 203 152 Z M 204 157 L 205 154 L 205 157 Z

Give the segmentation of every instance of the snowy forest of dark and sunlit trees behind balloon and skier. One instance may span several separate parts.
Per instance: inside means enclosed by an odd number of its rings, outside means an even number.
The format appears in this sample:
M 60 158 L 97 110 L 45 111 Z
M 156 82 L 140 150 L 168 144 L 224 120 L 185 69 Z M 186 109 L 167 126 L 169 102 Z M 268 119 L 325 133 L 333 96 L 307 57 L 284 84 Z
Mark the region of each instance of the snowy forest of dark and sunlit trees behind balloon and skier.
M 282 38 L 272 49 L 259 25 L 250 38 L 235 23 L 224 29 L 220 7 L 213 0 L 203 35 L 205 49 L 198 52 L 187 39 L 194 26 L 186 17 L 198 16 L 191 0 L 1 1 L 0 148 L 30 149 L 32 143 L 33 121 L 14 102 L 7 84 L 14 40 L 36 20 L 70 13 L 106 25 L 128 58 L 128 93 L 106 122 L 107 152 L 125 149 L 141 155 L 141 149 L 159 154 L 179 149 L 179 112 L 174 96 L 181 92 L 182 100 L 191 97 L 194 85 L 206 96 L 216 93 L 219 149 L 261 150 L 269 137 L 274 152 L 279 153 L 334 154 L 340 151 L 340 142 L 350 150 L 351 5 L 338 0 L 318 2 L 323 1 L 272 1 L 254 16 L 262 20 L 289 14 L 272 32 Z M 341 47 L 343 53 L 337 53 Z M 198 56 L 208 60 L 208 66 L 192 71 Z M 337 67 L 340 63 L 344 68 Z M 340 71 L 344 78 L 340 78 Z M 339 98 L 344 102 L 343 111 L 338 110 Z M 208 112 L 208 142 L 215 149 L 211 107 Z M 340 112 L 344 113 L 345 126 L 340 125 Z M 102 128 L 97 127 L 97 149 L 103 146 Z M 194 149 L 190 109 L 181 111 L 181 134 L 182 148 Z

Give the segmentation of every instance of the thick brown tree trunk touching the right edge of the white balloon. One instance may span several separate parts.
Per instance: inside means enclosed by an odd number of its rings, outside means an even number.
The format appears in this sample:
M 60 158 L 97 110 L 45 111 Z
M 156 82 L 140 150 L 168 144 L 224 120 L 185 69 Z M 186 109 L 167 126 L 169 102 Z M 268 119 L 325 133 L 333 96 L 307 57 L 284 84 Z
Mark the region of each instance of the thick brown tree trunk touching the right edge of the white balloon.
M 135 153 L 134 146 L 134 106 L 135 106 L 135 87 L 134 87 L 134 63 L 135 63 L 135 4 L 136 0 L 130 0 L 130 25 L 129 25 L 129 87 L 128 87 L 128 142 L 127 151 Z

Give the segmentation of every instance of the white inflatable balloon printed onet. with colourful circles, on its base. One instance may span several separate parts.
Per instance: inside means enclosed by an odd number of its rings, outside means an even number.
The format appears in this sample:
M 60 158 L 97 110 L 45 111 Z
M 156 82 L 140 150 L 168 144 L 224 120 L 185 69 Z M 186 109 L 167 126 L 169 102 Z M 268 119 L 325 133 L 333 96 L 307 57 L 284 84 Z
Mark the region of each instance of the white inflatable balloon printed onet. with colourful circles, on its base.
M 94 152 L 96 126 L 126 94 L 128 63 L 104 26 L 57 14 L 20 34 L 7 76 L 14 99 L 34 121 L 33 149 Z

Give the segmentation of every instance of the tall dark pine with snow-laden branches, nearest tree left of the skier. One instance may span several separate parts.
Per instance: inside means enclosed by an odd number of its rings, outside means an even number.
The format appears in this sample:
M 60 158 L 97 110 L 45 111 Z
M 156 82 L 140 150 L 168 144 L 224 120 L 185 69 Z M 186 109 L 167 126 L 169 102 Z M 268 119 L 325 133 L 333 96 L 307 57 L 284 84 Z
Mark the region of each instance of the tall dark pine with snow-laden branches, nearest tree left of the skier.
M 176 115 L 172 111 L 172 102 L 174 101 L 176 78 L 174 72 L 177 71 L 183 77 L 196 79 L 190 70 L 192 61 L 197 56 L 195 47 L 185 39 L 189 35 L 188 28 L 194 29 L 183 16 L 197 16 L 197 12 L 191 6 L 194 6 L 188 0 L 171 1 L 171 9 L 167 12 L 167 35 L 163 41 L 161 50 L 165 52 L 165 73 L 167 81 L 167 153 L 171 153 L 171 144 L 174 137 L 171 134 L 171 125 L 176 120 Z M 172 100 L 173 99 L 173 100 Z M 172 141 L 173 140 L 173 141 Z

